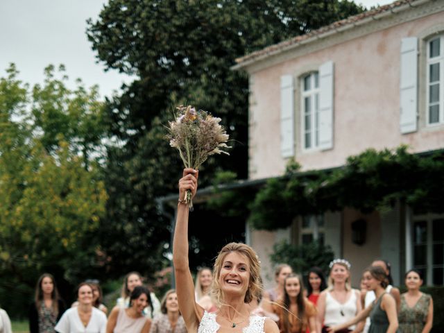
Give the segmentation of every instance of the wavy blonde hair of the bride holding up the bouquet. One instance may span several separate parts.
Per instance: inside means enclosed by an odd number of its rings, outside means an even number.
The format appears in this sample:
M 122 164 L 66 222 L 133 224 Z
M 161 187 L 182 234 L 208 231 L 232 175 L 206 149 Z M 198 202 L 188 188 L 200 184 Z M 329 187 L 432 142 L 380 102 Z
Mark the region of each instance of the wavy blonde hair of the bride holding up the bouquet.
M 261 263 L 257 257 L 255 250 L 243 243 L 230 243 L 225 245 L 219 255 L 216 257 L 213 268 L 213 285 L 212 293 L 216 302 L 223 305 L 223 297 L 221 286 L 219 285 L 219 276 L 221 275 L 221 267 L 225 256 L 229 253 L 237 252 L 244 255 L 248 259 L 248 272 L 250 273 L 250 281 L 248 282 L 248 289 L 245 294 L 244 302 L 249 303 L 253 299 L 260 299 L 263 291 L 261 275 Z

